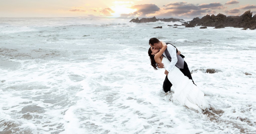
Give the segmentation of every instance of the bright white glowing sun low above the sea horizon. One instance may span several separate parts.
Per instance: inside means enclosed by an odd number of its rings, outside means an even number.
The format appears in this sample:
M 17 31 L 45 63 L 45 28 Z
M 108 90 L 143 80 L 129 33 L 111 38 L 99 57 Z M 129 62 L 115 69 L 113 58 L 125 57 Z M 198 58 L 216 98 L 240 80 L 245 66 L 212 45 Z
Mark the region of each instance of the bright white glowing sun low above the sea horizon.
M 111 7 L 111 9 L 115 11 L 114 13 L 111 13 L 113 17 L 120 17 L 121 14 L 130 14 L 136 11 L 136 9 L 131 9 L 127 5 L 118 5 Z

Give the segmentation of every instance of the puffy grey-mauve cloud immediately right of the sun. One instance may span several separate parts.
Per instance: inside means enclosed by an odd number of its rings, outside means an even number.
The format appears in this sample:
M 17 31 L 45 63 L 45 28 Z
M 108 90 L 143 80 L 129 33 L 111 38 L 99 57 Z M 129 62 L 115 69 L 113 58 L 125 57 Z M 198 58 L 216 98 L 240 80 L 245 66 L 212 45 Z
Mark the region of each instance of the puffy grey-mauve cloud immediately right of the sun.
M 136 14 L 141 14 L 141 15 L 152 14 L 160 10 L 160 8 L 155 4 L 133 5 L 130 8 L 137 9 Z

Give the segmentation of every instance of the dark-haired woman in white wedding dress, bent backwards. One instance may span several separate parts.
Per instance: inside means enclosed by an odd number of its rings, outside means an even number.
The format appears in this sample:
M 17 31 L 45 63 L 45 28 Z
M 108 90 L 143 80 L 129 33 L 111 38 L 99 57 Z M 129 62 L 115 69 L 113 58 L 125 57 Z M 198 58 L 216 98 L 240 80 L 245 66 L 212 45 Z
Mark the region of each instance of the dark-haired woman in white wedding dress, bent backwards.
M 163 63 L 165 66 L 170 64 L 170 61 L 162 56 L 167 45 L 163 41 L 161 41 L 161 44 L 162 49 L 160 50 L 152 47 L 148 49 L 151 65 L 155 70 L 157 70 L 157 64 Z M 209 110 L 210 106 L 204 97 L 204 93 L 193 84 L 192 80 L 188 79 L 187 76 L 184 76 L 179 68 L 174 66 L 174 68 L 169 71 L 167 77 L 175 88 L 173 100 L 177 100 L 181 105 L 186 105 L 188 108 L 195 109 L 199 113 Z

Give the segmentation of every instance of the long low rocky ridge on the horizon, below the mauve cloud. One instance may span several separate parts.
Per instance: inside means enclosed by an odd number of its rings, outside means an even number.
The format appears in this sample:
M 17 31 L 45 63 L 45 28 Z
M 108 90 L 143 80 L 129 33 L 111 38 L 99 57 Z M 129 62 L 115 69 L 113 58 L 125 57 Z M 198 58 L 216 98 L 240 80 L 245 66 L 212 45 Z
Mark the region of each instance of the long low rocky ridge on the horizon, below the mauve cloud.
M 184 22 L 183 19 L 175 19 L 175 18 L 168 18 L 168 19 L 156 19 L 156 17 L 152 17 L 152 18 L 136 18 L 136 19 L 132 19 L 130 20 L 130 22 L 134 22 L 134 23 L 146 23 L 146 22 L 156 22 L 156 21 L 164 21 L 164 22 Z

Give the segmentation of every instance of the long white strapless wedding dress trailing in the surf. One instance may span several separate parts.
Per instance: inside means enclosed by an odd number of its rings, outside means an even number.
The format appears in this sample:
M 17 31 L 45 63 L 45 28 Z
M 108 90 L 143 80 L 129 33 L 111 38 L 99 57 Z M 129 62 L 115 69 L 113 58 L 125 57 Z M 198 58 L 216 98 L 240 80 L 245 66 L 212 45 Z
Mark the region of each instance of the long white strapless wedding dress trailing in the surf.
M 163 57 L 162 63 L 167 66 L 170 61 Z M 210 106 L 204 97 L 204 93 L 193 84 L 191 79 L 174 66 L 174 68 L 168 73 L 168 79 L 175 88 L 173 94 L 173 100 L 177 100 L 181 105 L 186 105 L 188 108 L 195 109 L 198 112 L 202 112 L 209 109 Z

